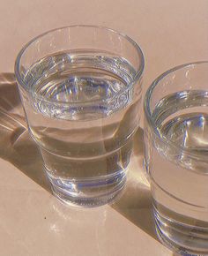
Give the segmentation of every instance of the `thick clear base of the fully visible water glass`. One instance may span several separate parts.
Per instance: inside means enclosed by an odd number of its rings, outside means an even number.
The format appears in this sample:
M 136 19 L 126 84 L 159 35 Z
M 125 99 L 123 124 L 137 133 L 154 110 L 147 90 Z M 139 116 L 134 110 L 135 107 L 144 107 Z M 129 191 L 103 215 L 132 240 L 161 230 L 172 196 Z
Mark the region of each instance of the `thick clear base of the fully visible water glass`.
M 117 200 L 126 184 L 120 172 L 94 179 L 63 179 L 47 172 L 52 191 L 58 200 L 73 207 L 99 207 Z

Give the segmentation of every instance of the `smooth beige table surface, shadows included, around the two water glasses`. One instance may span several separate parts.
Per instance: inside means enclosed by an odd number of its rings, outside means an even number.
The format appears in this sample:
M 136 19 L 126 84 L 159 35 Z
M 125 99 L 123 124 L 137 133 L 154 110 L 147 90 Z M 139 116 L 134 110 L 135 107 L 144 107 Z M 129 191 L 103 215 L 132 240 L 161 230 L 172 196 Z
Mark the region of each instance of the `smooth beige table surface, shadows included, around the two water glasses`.
M 0 255 L 176 255 L 154 233 L 142 129 L 122 198 L 113 206 L 65 207 L 49 192 L 28 138 L 13 64 L 23 44 L 48 29 L 109 26 L 144 50 L 145 92 L 161 72 L 208 59 L 208 1 L 0 0 L 0 14 Z

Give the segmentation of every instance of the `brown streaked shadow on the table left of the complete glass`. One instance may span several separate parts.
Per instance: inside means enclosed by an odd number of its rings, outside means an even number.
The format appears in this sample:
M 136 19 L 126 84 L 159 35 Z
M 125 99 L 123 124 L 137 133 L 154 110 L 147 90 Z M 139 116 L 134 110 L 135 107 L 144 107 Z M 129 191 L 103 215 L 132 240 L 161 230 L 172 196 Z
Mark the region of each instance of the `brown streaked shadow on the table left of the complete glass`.
M 41 154 L 27 131 L 13 73 L 0 74 L 0 157 L 50 192 Z

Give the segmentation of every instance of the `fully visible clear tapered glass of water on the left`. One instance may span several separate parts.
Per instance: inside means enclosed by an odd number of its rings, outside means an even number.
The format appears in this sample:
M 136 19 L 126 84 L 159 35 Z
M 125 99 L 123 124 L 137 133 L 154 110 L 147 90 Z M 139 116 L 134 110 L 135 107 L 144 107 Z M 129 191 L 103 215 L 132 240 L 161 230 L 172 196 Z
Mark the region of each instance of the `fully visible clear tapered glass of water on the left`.
M 34 38 L 15 64 L 29 132 L 59 200 L 94 207 L 122 192 L 140 117 L 144 56 L 100 26 Z

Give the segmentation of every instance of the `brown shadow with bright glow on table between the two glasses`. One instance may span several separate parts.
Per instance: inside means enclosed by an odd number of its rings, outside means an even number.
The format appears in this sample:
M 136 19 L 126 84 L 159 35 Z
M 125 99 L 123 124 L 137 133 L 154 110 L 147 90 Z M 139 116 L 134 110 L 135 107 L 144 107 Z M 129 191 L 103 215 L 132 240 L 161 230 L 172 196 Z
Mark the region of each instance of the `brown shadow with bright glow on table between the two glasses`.
M 134 153 L 130 162 L 126 189 L 112 207 L 151 237 L 157 239 L 152 215 L 150 186 L 143 171 L 143 156 L 143 130 L 138 128 L 134 138 Z

